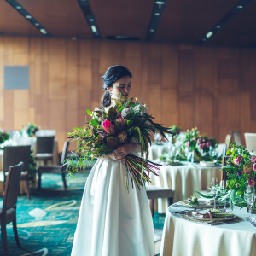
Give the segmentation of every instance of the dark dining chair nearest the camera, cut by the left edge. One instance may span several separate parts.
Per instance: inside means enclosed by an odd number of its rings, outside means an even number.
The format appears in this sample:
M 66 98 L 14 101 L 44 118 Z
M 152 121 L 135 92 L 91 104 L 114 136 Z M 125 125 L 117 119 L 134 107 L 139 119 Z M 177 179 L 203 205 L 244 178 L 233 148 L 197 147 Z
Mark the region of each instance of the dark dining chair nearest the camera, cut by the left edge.
M 22 162 L 15 166 L 9 166 L 6 186 L 3 191 L 3 208 L 0 209 L 0 221 L 4 255 L 9 255 L 6 225 L 11 222 L 13 224 L 15 241 L 17 246 L 21 248 L 17 230 L 16 205 L 20 190 L 20 176 L 23 166 L 24 164 Z

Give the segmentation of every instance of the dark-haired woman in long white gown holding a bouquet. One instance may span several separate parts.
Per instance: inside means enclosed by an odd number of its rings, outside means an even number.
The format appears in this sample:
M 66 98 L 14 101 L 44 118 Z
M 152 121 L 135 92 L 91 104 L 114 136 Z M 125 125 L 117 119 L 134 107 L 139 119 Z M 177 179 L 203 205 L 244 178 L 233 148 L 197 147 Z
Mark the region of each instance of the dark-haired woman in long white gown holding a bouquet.
M 102 106 L 110 108 L 120 93 L 128 99 L 131 72 L 109 67 L 102 77 Z M 140 145 L 127 143 L 96 161 L 84 187 L 73 256 L 154 256 L 154 228 L 144 187 L 125 186 L 125 161 Z

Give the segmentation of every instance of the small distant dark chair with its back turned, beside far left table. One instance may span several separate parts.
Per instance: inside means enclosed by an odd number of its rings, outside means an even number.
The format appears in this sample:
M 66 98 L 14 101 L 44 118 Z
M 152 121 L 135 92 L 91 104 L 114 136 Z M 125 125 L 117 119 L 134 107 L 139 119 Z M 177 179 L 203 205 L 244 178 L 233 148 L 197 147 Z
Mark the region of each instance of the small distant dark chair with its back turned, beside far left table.
M 53 149 L 54 149 L 55 135 L 51 136 L 36 136 L 36 152 L 34 154 L 35 160 L 44 161 L 44 166 L 51 160 L 53 164 Z

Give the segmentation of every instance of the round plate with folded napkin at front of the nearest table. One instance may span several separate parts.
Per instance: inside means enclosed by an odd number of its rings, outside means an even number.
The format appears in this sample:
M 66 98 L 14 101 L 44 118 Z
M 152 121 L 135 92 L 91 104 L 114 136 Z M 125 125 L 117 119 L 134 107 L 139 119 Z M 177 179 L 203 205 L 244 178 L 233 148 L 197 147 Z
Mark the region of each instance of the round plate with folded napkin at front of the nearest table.
M 206 213 L 207 213 L 206 210 L 189 211 L 189 212 L 184 212 L 182 214 L 182 217 L 192 221 L 207 222 L 207 223 L 229 221 L 236 218 L 236 215 L 230 212 L 219 212 L 220 214 L 223 214 L 226 216 L 219 216 L 219 217 L 212 216 L 212 218 L 207 218 L 207 216 L 205 215 L 205 218 L 203 218 L 203 214 L 206 214 Z

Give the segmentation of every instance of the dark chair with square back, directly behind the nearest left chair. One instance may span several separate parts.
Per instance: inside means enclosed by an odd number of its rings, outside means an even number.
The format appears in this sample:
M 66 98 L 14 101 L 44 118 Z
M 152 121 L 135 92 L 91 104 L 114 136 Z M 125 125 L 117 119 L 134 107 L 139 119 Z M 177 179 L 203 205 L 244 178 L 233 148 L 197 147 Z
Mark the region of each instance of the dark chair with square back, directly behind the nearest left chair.
M 9 166 L 15 166 L 21 161 L 24 164 L 23 170 L 21 172 L 20 180 L 26 182 L 26 195 L 27 199 L 30 200 L 30 189 L 29 189 L 29 159 L 31 154 L 30 145 L 19 145 L 19 146 L 5 146 L 3 148 L 3 189 L 5 187 L 5 182 L 8 175 Z

